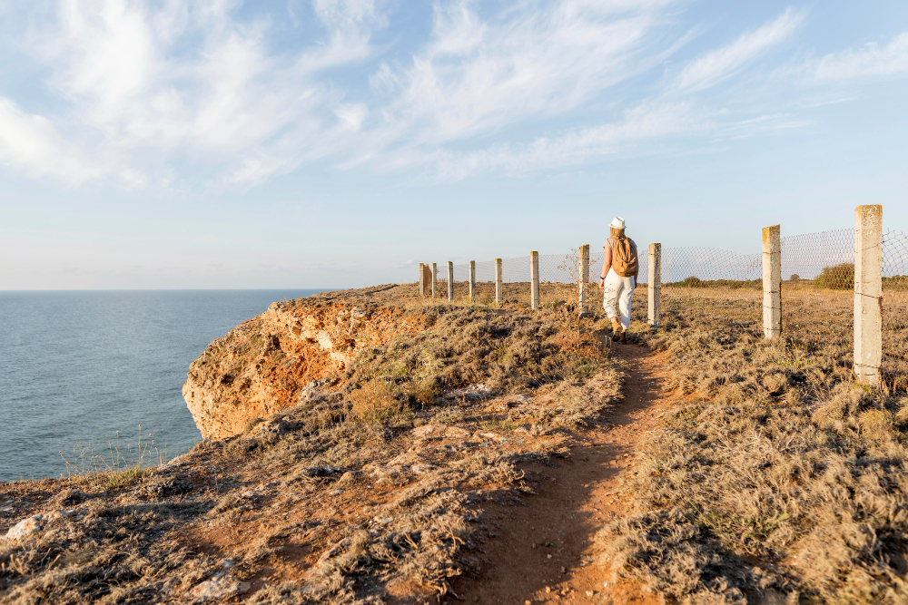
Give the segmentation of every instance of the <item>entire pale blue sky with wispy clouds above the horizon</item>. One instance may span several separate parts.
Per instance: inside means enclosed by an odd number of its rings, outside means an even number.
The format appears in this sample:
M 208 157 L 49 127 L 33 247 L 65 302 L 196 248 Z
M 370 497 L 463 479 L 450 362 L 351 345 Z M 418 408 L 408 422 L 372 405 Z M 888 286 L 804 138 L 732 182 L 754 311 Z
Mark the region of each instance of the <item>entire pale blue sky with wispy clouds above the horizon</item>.
M 908 230 L 908 3 L 0 0 L 0 289 Z

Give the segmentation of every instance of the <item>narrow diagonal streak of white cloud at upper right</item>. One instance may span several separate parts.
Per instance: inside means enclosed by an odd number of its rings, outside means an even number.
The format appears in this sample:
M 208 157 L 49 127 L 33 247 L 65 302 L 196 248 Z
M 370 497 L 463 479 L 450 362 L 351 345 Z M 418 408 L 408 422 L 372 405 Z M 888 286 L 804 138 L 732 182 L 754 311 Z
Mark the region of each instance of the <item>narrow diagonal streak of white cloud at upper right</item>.
M 789 8 L 772 23 L 765 24 L 754 32 L 742 34 L 732 44 L 704 54 L 688 63 L 678 74 L 674 84 L 676 89 L 696 91 L 716 85 L 794 34 L 803 20 L 803 14 Z

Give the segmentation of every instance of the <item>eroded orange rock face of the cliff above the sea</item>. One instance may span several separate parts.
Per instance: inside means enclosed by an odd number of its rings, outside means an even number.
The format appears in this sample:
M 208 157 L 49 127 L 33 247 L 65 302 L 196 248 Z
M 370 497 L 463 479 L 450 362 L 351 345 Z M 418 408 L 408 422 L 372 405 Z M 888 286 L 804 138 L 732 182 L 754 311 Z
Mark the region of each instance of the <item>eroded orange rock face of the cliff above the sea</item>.
M 183 398 L 206 439 L 242 433 L 301 403 L 312 381 L 336 386 L 362 349 L 414 329 L 416 319 L 390 308 L 273 303 L 192 362 Z

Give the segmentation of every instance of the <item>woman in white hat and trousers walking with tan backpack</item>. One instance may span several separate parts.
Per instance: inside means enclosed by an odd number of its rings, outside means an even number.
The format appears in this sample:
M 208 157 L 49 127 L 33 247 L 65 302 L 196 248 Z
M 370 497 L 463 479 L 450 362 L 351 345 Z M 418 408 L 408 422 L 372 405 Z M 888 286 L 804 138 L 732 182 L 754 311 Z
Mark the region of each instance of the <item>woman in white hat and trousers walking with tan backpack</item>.
M 606 254 L 599 278 L 599 288 L 603 291 L 602 307 L 612 320 L 612 340 L 627 342 L 630 302 L 640 271 L 637 244 L 625 235 L 625 222 L 621 217 L 612 219 L 608 229 L 609 236 L 603 246 Z

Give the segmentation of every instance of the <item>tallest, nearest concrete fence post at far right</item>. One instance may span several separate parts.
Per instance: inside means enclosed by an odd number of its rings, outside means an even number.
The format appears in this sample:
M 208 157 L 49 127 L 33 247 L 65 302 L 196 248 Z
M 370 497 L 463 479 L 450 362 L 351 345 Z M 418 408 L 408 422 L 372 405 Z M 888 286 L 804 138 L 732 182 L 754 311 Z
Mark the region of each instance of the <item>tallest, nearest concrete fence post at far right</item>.
M 854 209 L 854 376 L 880 385 L 883 363 L 883 206 Z

